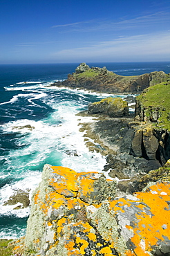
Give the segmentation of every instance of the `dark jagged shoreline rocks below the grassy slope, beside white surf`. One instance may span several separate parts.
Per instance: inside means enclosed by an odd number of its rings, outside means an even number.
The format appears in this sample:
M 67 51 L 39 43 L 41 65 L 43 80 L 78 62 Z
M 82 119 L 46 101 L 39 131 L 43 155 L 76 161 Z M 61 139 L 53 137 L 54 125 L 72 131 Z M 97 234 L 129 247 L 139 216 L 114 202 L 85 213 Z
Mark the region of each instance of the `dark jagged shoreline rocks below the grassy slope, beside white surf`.
M 79 113 L 81 115 L 81 113 Z M 118 179 L 132 179 L 156 170 L 170 158 L 168 131 L 133 118 L 94 114 L 96 122 L 80 122 L 89 150 L 106 156 L 104 171 Z M 101 117 L 99 117 L 101 116 Z M 133 190 L 134 192 L 134 190 Z

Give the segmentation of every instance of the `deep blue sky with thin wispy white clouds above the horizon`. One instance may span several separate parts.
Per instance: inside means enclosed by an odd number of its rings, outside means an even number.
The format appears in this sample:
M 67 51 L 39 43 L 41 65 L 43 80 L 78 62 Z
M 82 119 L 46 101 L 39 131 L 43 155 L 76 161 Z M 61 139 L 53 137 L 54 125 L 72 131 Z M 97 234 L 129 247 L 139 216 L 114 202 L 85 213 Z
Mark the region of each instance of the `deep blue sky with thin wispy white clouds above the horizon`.
M 0 0 L 0 64 L 170 61 L 170 0 Z

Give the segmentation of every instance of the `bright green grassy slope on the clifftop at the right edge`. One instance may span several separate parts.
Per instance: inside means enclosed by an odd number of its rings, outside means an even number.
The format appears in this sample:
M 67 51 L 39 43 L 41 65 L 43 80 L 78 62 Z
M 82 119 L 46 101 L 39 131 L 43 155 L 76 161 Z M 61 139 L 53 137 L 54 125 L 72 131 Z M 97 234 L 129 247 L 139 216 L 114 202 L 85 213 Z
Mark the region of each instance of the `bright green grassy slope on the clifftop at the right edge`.
M 170 131 L 170 82 L 162 82 L 148 87 L 141 93 L 138 100 L 145 109 L 159 109 L 160 118 L 157 127 Z

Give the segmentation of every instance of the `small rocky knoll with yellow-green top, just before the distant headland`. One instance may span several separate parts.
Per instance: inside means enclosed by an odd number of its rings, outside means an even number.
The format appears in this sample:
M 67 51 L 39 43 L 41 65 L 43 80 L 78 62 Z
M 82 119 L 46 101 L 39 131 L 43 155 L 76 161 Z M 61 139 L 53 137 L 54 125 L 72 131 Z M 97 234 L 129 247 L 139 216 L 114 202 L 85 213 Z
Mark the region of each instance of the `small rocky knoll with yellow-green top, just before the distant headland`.
M 88 105 L 88 113 L 102 113 L 113 117 L 122 117 L 129 115 L 129 107 L 122 98 L 105 98 L 100 102 L 93 102 Z

